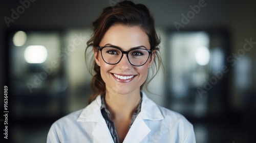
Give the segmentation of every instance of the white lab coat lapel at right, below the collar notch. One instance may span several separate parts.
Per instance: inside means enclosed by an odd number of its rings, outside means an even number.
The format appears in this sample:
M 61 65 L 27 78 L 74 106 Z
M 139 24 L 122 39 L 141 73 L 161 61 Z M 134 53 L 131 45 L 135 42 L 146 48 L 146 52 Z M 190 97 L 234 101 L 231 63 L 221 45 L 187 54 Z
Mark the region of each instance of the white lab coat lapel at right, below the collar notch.
M 123 143 L 140 142 L 150 131 L 151 129 L 147 127 L 139 113 L 125 136 Z

